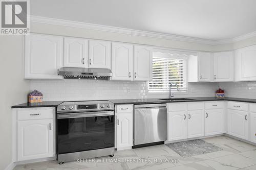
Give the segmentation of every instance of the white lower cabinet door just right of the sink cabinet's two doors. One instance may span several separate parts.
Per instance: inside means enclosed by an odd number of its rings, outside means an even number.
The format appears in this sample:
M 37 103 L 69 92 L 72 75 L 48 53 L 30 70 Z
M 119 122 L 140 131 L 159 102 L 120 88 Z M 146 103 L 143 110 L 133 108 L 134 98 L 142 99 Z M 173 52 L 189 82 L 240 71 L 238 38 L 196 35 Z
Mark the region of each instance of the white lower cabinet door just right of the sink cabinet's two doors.
M 205 110 L 205 136 L 217 135 L 224 132 L 223 109 Z

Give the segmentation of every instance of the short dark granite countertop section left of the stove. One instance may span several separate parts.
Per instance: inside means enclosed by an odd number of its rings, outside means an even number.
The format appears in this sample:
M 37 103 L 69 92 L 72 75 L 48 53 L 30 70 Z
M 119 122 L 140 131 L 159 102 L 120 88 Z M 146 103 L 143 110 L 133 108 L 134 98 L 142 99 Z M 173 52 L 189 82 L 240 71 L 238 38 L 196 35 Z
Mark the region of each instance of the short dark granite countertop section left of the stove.
M 30 108 L 30 107 L 57 107 L 63 101 L 47 101 L 42 103 L 23 103 L 19 105 L 12 106 L 12 108 Z

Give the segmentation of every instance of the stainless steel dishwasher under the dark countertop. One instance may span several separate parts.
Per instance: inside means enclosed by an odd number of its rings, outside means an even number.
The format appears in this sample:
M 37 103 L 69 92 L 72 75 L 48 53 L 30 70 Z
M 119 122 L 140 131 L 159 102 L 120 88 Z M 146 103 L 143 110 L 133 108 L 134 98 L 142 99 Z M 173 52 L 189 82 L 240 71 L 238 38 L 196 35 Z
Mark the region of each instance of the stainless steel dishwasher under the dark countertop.
M 134 145 L 167 140 L 166 104 L 134 105 Z

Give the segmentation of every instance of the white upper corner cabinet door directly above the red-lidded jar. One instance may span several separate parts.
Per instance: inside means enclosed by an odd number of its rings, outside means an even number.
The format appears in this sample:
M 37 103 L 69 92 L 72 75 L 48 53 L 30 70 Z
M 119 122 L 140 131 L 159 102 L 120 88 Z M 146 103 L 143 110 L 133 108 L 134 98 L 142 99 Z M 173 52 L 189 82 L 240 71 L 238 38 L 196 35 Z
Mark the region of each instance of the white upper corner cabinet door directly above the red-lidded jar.
M 214 81 L 233 81 L 233 52 L 214 53 Z

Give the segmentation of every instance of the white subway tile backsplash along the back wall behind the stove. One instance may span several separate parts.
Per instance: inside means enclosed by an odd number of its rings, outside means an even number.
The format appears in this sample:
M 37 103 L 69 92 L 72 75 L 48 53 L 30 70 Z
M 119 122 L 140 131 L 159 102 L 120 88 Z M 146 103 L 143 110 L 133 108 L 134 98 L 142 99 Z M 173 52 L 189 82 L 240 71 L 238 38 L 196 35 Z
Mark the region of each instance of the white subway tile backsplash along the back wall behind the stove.
M 175 97 L 215 96 L 218 87 L 218 83 L 188 83 L 187 93 Z M 44 101 L 168 98 L 167 93 L 147 93 L 147 83 L 137 81 L 31 80 L 30 89 L 41 91 Z

